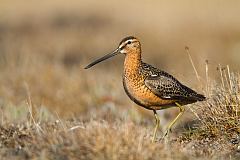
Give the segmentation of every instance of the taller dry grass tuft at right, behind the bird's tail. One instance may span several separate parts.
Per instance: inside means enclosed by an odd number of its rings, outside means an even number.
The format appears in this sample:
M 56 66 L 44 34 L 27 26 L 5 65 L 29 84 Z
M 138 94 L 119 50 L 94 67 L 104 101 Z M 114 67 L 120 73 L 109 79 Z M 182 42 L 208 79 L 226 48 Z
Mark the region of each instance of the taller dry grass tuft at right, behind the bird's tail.
M 188 142 L 204 142 L 203 148 L 221 148 L 222 153 L 233 151 L 239 156 L 240 77 L 230 72 L 228 66 L 219 65 L 219 73 L 218 82 L 207 84 L 210 98 L 193 109 L 200 123 L 182 138 Z

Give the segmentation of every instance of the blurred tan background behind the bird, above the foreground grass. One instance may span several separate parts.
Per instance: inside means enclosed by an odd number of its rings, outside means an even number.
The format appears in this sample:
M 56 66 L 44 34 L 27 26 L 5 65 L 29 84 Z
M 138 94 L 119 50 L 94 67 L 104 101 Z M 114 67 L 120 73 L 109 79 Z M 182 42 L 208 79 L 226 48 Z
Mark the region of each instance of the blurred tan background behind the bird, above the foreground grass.
M 84 66 L 134 35 L 145 62 L 204 93 L 206 60 L 212 78 L 218 64 L 240 67 L 239 15 L 237 0 L 1 0 L 0 106 L 24 106 L 30 96 L 61 117 L 153 120 L 124 93 L 123 56 Z

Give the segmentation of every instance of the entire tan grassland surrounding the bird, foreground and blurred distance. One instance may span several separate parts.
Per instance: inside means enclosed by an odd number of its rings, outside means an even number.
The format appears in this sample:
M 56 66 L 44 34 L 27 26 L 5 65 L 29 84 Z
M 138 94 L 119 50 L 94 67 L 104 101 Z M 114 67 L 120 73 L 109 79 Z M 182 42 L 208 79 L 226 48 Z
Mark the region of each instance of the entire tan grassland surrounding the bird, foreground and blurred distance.
M 238 159 L 237 3 L 4 1 L 1 159 Z M 125 95 L 123 58 L 83 70 L 130 34 L 140 38 L 145 61 L 208 97 L 188 106 L 167 143 L 151 143 L 152 113 Z M 162 130 L 176 113 L 159 112 Z

